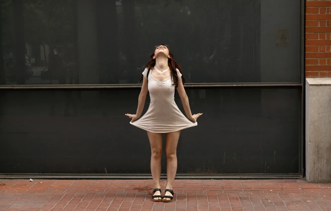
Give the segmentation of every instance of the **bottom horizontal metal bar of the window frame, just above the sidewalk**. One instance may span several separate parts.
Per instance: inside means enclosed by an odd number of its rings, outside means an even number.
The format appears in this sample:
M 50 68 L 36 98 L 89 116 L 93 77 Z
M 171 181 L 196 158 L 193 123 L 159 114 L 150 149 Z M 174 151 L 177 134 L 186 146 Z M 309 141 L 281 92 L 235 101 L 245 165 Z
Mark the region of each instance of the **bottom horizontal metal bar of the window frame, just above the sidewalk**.
M 2 174 L 0 179 L 152 179 L 150 174 Z M 301 174 L 177 174 L 176 179 L 301 179 Z M 166 179 L 166 175 L 161 175 Z

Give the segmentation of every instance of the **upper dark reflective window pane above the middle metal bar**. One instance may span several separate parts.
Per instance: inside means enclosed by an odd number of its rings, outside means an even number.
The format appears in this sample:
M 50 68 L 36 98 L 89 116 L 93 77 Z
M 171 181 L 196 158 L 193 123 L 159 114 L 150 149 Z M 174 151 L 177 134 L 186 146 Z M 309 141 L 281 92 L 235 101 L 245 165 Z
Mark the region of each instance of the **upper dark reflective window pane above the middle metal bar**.
M 279 2 L 288 9 L 273 0 L 0 0 L 0 84 L 139 83 L 161 43 L 187 83 L 296 82 L 299 41 L 277 47 L 273 36 L 276 26 L 299 36 L 299 4 Z

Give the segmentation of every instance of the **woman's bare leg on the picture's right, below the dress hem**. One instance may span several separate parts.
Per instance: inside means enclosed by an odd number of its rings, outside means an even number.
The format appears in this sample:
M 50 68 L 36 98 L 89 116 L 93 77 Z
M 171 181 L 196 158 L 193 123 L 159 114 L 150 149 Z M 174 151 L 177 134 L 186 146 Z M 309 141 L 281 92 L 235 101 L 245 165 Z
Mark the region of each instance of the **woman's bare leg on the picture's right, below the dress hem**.
M 180 131 L 166 134 L 166 175 L 167 184 L 166 189 L 172 190 L 173 181 L 177 171 L 177 144 Z M 166 191 L 165 195 L 172 195 L 169 191 Z M 170 200 L 170 198 L 166 198 Z

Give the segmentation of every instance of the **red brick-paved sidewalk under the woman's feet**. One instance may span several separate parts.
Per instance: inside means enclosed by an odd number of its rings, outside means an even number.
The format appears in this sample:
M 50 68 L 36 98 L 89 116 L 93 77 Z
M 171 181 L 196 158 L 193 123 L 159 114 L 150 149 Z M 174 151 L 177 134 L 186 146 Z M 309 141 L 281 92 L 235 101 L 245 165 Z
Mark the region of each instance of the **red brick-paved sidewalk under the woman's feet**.
M 152 180 L 0 180 L 0 211 L 331 211 L 331 184 L 175 180 L 173 187 L 173 202 L 154 203 Z

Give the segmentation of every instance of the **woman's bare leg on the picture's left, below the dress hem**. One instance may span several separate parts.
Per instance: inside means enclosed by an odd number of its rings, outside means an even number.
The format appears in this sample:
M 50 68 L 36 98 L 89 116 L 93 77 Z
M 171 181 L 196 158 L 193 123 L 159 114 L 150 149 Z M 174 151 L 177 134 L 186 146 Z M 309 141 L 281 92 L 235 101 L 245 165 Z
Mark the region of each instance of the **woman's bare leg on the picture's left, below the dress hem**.
M 149 143 L 151 144 L 151 172 L 154 182 L 154 188 L 161 188 L 161 156 L 162 156 L 162 133 L 147 132 Z M 156 191 L 154 195 L 161 195 L 160 191 Z M 161 199 L 161 198 L 155 198 Z

